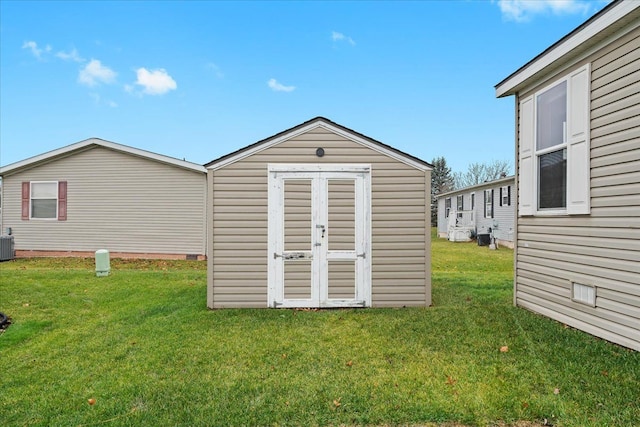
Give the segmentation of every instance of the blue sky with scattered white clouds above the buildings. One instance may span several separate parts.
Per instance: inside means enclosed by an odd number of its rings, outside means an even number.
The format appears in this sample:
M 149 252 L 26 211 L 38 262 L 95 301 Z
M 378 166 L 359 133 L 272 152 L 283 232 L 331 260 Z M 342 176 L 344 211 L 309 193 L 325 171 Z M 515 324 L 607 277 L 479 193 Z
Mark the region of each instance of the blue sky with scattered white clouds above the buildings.
M 454 172 L 494 85 L 606 1 L 0 2 L 0 164 L 98 137 L 204 164 L 324 116 Z

